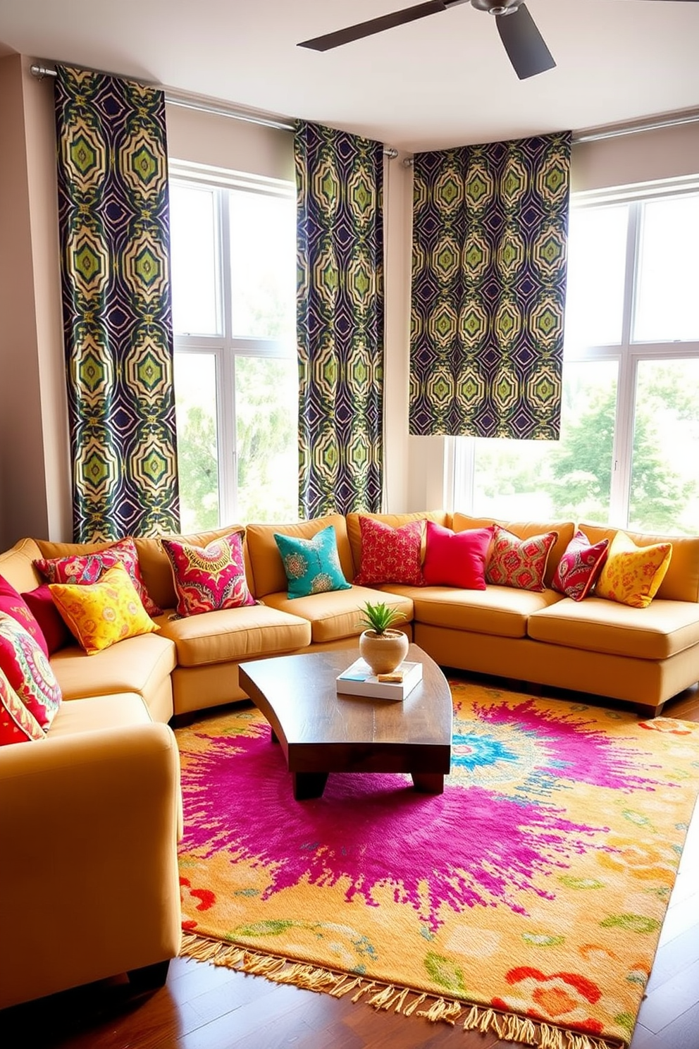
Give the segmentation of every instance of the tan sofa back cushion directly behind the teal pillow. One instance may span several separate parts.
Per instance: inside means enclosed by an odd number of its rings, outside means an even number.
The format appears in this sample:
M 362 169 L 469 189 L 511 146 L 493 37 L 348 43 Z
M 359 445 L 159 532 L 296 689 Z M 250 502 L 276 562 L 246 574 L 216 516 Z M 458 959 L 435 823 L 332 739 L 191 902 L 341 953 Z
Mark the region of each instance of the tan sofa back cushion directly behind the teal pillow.
M 282 555 L 279 552 L 275 533 L 288 535 L 297 539 L 312 539 L 323 529 L 332 526 L 335 530 L 337 555 L 345 579 L 354 577 L 352 554 L 347 538 L 347 527 L 342 514 L 328 514 L 326 517 L 314 517 L 308 521 L 297 521 L 292 524 L 248 524 L 246 528 L 247 552 L 253 570 L 252 590 L 256 597 L 263 598 L 265 594 L 278 594 L 287 590 L 288 580 Z

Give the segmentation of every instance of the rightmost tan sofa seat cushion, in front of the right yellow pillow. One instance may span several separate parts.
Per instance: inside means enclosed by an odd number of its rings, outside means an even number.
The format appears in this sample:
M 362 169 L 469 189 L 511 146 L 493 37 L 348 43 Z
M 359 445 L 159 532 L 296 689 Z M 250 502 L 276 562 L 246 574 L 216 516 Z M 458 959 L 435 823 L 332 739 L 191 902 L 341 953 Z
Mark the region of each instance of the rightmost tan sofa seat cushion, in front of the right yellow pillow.
M 647 608 L 589 597 L 564 598 L 531 616 L 529 637 L 611 656 L 662 660 L 699 644 L 699 604 L 656 599 Z M 604 682 L 599 683 L 604 692 Z

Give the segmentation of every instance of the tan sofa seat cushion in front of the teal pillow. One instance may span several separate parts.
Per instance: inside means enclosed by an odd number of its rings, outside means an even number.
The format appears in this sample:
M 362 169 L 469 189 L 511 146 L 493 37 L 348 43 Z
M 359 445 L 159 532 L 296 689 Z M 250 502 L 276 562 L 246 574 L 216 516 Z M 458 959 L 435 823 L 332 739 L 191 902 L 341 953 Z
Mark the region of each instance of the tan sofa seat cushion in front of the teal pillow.
M 309 597 L 297 597 L 291 600 L 286 591 L 267 594 L 264 603 L 280 612 L 293 612 L 303 616 L 310 623 L 311 641 L 316 644 L 327 641 L 341 641 L 344 638 L 358 638 L 363 627 L 359 625 L 362 605 L 365 601 L 384 601 L 397 608 L 409 623 L 413 618 L 413 602 L 409 597 L 383 593 L 369 586 L 352 586 L 347 591 L 332 591 L 327 594 L 311 594 Z

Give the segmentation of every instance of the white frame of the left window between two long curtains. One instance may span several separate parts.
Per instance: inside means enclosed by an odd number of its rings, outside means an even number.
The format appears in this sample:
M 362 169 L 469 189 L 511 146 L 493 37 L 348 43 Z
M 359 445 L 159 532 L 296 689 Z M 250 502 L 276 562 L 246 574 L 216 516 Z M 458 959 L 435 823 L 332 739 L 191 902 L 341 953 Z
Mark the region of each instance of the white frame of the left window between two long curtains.
M 216 367 L 216 429 L 218 448 L 219 523 L 238 520 L 238 450 L 236 447 L 236 383 L 235 369 L 239 357 L 274 359 L 297 358 L 293 338 L 241 338 L 232 331 L 231 295 L 231 222 L 228 190 L 244 190 L 264 196 L 293 199 L 293 183 L 263 175 L 228 171 L 188 160 L 169 162 L 169 181 L 202 189 L 218 190 L 214 195 L 216 231 L 216 304 L 218 335 L 174 333 L 175 354 L 206 354 L 213 356 Z

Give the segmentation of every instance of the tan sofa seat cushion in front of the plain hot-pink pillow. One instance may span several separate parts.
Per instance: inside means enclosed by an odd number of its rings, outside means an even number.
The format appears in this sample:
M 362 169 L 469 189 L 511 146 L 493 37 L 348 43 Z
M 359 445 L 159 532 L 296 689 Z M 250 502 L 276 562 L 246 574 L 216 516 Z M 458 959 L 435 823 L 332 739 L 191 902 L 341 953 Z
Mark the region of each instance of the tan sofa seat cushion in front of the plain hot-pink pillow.
M 526 637 L 527 618 L 563 600 L 552 590 L 524 591 L 489 583 L 484 591 L 452 586 L 387 586 L 389 588 L 413 599 L 416 623 L 501 638 Z

